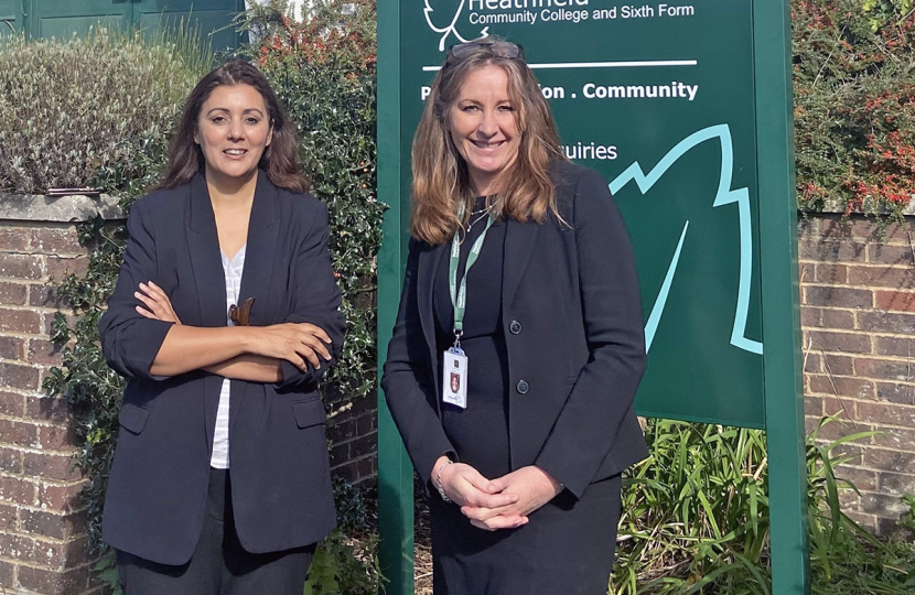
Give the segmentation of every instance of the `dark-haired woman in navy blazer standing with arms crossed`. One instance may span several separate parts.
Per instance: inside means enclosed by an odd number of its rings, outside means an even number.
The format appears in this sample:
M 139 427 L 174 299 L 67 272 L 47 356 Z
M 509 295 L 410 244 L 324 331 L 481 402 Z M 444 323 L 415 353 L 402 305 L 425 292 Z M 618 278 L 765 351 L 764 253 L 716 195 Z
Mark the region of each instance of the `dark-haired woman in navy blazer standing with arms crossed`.
M 335 512 L 317 380 L 343 343 L 327 210 L 233 60 L 191 93 L 99 323 L 129 378 L 104 540 L 127 595 L 301 595 Z

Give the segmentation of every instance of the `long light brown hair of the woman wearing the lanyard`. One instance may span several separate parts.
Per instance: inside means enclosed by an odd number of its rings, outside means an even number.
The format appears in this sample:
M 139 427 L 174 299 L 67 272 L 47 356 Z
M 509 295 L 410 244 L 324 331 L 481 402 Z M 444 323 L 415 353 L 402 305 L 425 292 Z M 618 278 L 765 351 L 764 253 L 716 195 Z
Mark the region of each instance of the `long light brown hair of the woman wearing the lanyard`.
M 461 60 L 449 57 L 432 83 L 413 137 L 410 234 L 432 245 L 450 240 L 465 223 L 458 218 L 461 203 L 465 219 L 473 209 L 475 197 L 467 164 L 451 138 L 451 108 L 467 75 L 491 64 L 508 76 L 508 97 L 515 107 L 520 145 L 504 190 L 489 199 L 489 213 L 538 223 L 543 223 L 548 212 L 558 216 L 549 163 L 566 160 L 566 155 L 556 121 L 524 58 L 497 55 L 492 50 L 493 40 L 482 40 Z

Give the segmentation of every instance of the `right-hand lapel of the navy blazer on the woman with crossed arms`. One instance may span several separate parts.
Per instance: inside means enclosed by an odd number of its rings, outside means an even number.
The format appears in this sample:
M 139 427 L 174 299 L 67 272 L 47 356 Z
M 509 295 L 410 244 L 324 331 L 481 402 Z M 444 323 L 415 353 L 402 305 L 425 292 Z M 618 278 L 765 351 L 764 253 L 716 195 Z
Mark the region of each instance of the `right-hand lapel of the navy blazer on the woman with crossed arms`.
M 238 303 L 244 304 L 248 298 L 254 298 L 250 324 L 263 326 L 273 320 L 276 300 L 270 300 L 270 280 L 273 273 L 274 255 L 278 240 L 277 225 L 277 187 L 267 177 L 267 173 L 259 171 L 255 199 L 251 205 L 251 216 L 248 220 L 248 240 L 245 249 L 245 266 L 241 270 L 241 286 L 238 291 Z M 229 400 L 229 430 L 238 419 L 245 391 L 239 390 L 243 382 L 233 382 L 232 399 Z

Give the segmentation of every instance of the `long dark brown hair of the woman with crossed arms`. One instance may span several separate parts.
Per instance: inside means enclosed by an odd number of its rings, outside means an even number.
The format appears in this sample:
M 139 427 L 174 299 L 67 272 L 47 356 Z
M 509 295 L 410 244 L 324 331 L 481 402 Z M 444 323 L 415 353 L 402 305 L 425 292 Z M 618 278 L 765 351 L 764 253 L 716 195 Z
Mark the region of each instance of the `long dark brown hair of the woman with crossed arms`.
M 305 192 L 308 180 L 299 167 L 298 143 L 292 122 L 263 73 L 239 58 L 229 60 L 211 71 L 187 96 L 184 113 L 169 148 L 169 170 L 159 187 L 181 186 L 190 182 L 194 174 L 203 171 L 203 151 L 194 142 L 194 132 L 197 130 L 203 105 L 213 90 L 223 85 L 250 85 L 257 89 L 263 98 L 268 118 L 273 127 L 272 140 L 263 150 L 258 167 L 267 172 L 267 177 L 277 186 L 292 192 Z

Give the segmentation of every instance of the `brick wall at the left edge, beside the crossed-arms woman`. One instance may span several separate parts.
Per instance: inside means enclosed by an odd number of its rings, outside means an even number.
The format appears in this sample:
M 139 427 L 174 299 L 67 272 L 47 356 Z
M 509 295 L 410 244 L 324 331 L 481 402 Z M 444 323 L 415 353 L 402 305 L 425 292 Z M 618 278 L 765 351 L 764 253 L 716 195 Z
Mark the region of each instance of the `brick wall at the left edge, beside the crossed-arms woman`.
M 58 355 L 49 278 L 84 270 L 72 224 L 0 221 L 0 592 L 98 593 L 65 401 L 41 382 Z

